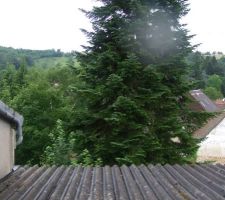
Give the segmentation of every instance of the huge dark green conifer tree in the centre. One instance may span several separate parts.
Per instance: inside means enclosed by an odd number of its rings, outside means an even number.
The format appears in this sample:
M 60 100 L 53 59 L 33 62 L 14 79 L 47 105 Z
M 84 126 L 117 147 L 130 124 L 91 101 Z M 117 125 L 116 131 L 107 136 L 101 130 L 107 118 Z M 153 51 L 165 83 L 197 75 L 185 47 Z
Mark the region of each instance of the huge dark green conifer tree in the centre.
M 192 50 L 179 22 L 186 0 L 101 0 L 85 12 L 93 31 L 78 53 L 76 148 L 103 164 L 182 163 L 197 143 L 185 118 L 184 56 Z

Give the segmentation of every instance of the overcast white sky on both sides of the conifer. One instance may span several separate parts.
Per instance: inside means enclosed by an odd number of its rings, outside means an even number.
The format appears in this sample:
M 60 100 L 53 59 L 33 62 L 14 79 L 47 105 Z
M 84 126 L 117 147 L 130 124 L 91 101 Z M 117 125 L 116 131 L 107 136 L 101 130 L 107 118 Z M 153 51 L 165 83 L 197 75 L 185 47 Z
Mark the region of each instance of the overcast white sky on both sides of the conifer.
M 81 50 L 90 28 L 78 8 L 91 9 L 94 0 L 0 0 L 0 46 L 27 49 Z M 190 0 L 183 20 L 200 51 L 225 53 L 225 0 Z

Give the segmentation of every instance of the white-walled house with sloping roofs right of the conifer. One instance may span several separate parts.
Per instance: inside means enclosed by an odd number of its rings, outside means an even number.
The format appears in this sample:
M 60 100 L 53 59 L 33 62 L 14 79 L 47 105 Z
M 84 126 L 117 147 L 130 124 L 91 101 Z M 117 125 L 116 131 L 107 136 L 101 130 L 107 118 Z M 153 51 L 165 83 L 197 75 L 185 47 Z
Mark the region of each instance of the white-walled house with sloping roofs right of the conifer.
M 213 102 L 201 90 L 192 90 L 190 95 L 194 100 L 190 108 L 195 111 L 214 112 L 200 129 L 193 133 L 193 137 L 204 139 L 197 152 L 199 162 L 225 163 L 225 103 L 224 100 Z

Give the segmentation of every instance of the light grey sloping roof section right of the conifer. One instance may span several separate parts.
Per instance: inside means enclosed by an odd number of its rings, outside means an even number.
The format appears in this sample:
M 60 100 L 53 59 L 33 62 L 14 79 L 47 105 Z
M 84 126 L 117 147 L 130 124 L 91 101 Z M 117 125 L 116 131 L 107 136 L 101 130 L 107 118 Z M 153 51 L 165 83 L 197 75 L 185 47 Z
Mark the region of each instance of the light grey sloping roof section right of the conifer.
M 191 96 L 201 105 L 203 110 L 207 112 L 218 112 L 219 108 L 216 104 L 206 96 L 200 89 L 199 90 L 191 90 Z

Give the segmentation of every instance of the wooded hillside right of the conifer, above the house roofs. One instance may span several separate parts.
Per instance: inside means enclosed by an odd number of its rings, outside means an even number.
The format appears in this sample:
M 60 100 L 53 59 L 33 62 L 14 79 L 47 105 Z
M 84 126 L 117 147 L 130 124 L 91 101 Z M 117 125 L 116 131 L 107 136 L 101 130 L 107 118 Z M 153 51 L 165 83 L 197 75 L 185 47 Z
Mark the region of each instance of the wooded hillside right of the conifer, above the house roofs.
M 194 52 L 187 57 L 189 79 L 213 100 L 225 96 L 225 56 L 222 53 Z

